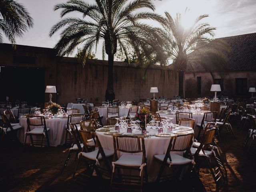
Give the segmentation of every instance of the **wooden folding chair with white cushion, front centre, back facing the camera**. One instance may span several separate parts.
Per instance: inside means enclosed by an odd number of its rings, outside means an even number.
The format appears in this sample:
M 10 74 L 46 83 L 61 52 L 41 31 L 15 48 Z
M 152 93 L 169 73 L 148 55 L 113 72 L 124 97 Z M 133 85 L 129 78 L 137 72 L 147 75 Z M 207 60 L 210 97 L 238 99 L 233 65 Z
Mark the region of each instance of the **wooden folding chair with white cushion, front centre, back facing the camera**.
M 125 185 L 124 189 L 127 189 L 127 185 L 140 186 L 142 192 L 143 175 L 145 172 L 145 180 L 148 182 L 148 172 L 146 166 L 146 150 L 144 145 L 143 136 L 131 136 L 131 135 L 113 135 L 114 140 L 114 158 L 112 162 L 113 170 L 111 175 L 110 190 L 122 188 L 120 185 Z M 122 152 L 118 156 L 118 152 Z M 127 154 L 129 153 L 129 154 Z M 132 153 L 132 154 L 130 154 Z M 140 154 L 135 154 L 140 153 Z M 141 154 L 142 153 L 142 154 Z M 123 170 L 137 170 L 138 175 L 121 174 L 120 169 Z M 114 171 L 117 170 L 118 178 L 114 178 Z

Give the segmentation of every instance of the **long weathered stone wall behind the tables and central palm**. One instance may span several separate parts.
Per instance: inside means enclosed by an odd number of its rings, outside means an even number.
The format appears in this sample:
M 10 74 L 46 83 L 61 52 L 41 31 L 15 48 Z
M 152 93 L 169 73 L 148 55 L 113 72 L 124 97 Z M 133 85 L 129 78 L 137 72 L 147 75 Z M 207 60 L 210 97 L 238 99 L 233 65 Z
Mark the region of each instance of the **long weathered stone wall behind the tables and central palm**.
M 88 102 L 102 102 L 105 99 L 108 70 L 107 61 L 88 60 L 83 68 L 76 58 L 56 57 L 54 49 L 10 44 L 0 44 L 0 66 L 43 68 L 46 85 L 55 85 L 57 94 L 52 100 L 60 104 L 76 102 L 75 98 L 86 98 Z M 150 87 L 158 87 L 156 96 L 173 98 L 178 94 L 178 76 L 169 67 L 152 66 L 142 79 L 144 70 L 135 64 L 114 62 L 114 91 L 120 101 L 151 98 Z M 11 76 L 11 74 L 10 74 Z M 14 78 L 14 77 L 13 77 Z M 8 82 L 6 82 L 8 83 Z M 17 85 L 19 86 L 19 85 Z M 25 93 L 24 93 L 25 94 Z M 44 91 L 44 102 L 49 94 Z

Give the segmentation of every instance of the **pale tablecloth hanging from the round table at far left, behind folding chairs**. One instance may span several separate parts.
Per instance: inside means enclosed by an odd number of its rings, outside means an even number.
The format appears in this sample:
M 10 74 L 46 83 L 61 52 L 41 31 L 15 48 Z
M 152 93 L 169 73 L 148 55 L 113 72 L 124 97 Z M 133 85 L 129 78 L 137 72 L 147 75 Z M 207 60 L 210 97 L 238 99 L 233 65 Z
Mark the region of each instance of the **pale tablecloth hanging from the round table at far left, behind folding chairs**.
M 50 141 L 50 146 L 58 146 L 58 145 L 63 145 L 65 144 L 65 134 L 66 134 L 66 124 L 68 122 L 68 118 L 51 118 L 51 119 L 46 119 L 46 127 L 50 128 L 48 132 L 49 136 L 49 141 Z M 27 118 L 20 118 L 20 126 L 23 128 L 21 130 L 18 130 L 17 136 L 20 140 L 21 143 L 24 143 L 25 140 L 25 135 L 24 133 L 27 130 Z M 34 129 L 34 126 L 31 126 L 31 130 Z M 41 139 L 42 136 L 33 136 L 38 137 L 36 139 Z M 26 143 L 30 142 L 30 138 L 27 137 Z

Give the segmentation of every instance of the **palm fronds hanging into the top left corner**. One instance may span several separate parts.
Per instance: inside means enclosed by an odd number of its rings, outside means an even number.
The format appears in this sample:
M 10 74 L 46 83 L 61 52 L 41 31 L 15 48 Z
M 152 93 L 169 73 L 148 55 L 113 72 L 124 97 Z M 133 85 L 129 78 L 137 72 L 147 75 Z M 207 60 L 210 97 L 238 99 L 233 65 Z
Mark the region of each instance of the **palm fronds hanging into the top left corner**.
M 33 19 L 22 4 L 15 0 L 0 0 L 0 43 L 4 33 L 15 45 L 15 38 L 21 37 L 32 26 Z

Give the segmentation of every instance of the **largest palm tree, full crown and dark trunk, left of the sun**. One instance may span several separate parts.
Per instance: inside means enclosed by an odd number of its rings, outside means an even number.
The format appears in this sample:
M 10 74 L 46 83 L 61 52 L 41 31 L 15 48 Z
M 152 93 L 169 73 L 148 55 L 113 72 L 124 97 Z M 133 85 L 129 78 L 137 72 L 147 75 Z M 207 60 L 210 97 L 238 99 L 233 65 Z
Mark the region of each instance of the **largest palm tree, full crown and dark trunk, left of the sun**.
M 149 9 L 151 12 L 139 9 Z M 108 84 L 105 94 L 106 100 L 114 100 L 113 64 L 117 50 L 126 55 L 128 60 L 128 47 L 132 47 L 138 60 L 154 58 L 160 64 L 166 64 L 163 47 L 166 41 L 162 38 L 161 31 L 148 24 L 140 22 L 143 19 L 152 19 L 163 22 L 163 18 L 155 14 L 151 0 L 95 0 L 90 4 L 83 0 L 69 0 L 57 4 L 54 10 L 62 9 L 60 16 L 69 12 L 79 12 L 82 18 L 63 18 L 50 30 L 52 36 L 60 28 L 64 28 L 55 48 L 59 56 L 72 53 L 76 46 L 82 46 L 82 63 L 86 64 L 86 56 L 97 48 L 100 40 L 104 54 L 108 55 Z M 156 45 L 158 42 L 158 45 Z M 159 54 L 157 54 L 159 52 Z M 128 60 L 129 61 L 129 60 Z

